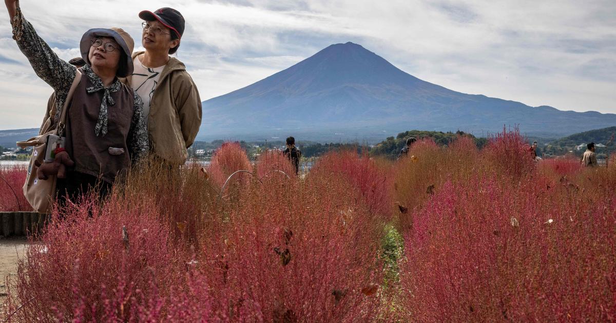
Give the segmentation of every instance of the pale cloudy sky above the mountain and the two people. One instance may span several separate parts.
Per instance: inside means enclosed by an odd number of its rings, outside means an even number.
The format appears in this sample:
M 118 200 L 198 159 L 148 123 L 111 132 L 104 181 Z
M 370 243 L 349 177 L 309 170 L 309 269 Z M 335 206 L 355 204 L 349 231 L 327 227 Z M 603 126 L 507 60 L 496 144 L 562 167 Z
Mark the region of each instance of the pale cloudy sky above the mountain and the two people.
M 616 113 L 614 0 L 22 0 L 60 57 L 94 27 L 140 44 L 140 10 L 171 6 L 187 28 L 177 57 L 201 98 L 252 84 L 352 41 L 424 81 L 559 110 Z M 51 87 L 11 38 L 0 9 L 0 129 L 38 127 Z M 207 116 L 203 116 L 207 118 Z

